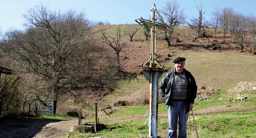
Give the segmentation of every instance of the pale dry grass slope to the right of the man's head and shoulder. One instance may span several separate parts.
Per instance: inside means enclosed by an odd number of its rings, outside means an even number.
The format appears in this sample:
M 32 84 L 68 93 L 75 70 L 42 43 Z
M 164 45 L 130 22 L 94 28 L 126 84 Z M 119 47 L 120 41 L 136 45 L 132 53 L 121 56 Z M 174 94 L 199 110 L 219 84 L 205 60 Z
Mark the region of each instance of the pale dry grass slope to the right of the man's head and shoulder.
M 241 81 L 256 78 L 256 57 L 240 53 L 210 52 L 202 48 L 180 50 L 177 56 L 186 57 L 185 68 L 195 77 L 198 87 L 228 90 Z M 173 63 L 167 63 L 173 66 Z

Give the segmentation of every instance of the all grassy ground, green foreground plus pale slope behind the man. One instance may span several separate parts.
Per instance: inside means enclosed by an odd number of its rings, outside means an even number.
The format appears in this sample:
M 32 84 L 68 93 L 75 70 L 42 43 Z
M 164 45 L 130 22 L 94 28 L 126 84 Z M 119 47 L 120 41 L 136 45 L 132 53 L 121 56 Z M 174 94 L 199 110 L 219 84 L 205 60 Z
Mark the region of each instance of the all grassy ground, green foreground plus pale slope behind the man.
M 111 27 L 109 32 L 114 31 Z M 122 26 L 124 27 L 124 26 Z M 187 32 L 186 28 L 179 28 L 181 32 Z M 141 31 L 142 32 L 142 31 Z M 142 36 L 139 34 L 139 36 Z M 185 35 L 183 35 L 185 36 Z M 214 97 L 221 95 L 227 97 L 226 91 L 233 88 L 240 81 L 255 81 L 256 73 L 256 57 L 241 53 L 233 52 L 210 52 L 203 48 L 194 48 L 191 50 L 179 50 L 178 48 L 166 48 L 160 46 L 159 50 L 177 51 L 178 56 L 186 57 L 185 68 L 192 72 L 197 81 L 198 87 L 205 85 L 207 88 L 221 89 L 222 92 L 216 93 Z M 165 66 L 173 67 L 170 60 L 164 63 Z M 131 93 L 143 90 L 148 87 L 148 81 L 144 76 L 138 76 L 139 82 L 136 79 L 129 79 L 118 82 L 118 88 L 111 95 L 105 97 L 109 102 L 115 101 L 118 97 L 123 97 Z M 256 112 L 253 110 L 256 106 L 256 94 L 251 93 L 251 96 L 246 101 L 228 102 L 226 100 L 211 99 L 210 101 L 195 101 L 194 112 L 209 107 L 225 106 L 230 104 L 235 106 L 241 104 L 244 109 L 250 109 L 245 112 L 231 113 L 214 113 L 210 115 L 202 115 L 197 117 L 197 127 L 200 137 L 202 138 L 223 138 L 223 137 L 256 137 Z M 111 116 L 102 116 L 101 122 L 106 122 L 107 129 L 97 134 L 73 132 L 71 137 L 147 137 L 147 123 L 144 123 L 147 117 L 145 114 L 148 106 L 126 106 L 116 107 L 117 112 Z M 158 135 L 166 137 L 167 131 L 167 116 L 165 104 L 159 104 L 158 109 Z M 93 122 L 93 119 L 89 119 Z M 188 121 L 188 137 L 196 137 L 194 127 L 192 126 L 192 116 Z

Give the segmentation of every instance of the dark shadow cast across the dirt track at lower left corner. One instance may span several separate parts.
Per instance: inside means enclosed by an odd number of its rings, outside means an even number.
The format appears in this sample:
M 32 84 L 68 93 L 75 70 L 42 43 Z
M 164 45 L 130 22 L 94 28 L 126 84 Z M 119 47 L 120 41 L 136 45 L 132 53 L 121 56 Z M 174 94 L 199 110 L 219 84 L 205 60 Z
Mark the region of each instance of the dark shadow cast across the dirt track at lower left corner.
M 57 119 L 0 118 L 0 138 L 31 138 Z

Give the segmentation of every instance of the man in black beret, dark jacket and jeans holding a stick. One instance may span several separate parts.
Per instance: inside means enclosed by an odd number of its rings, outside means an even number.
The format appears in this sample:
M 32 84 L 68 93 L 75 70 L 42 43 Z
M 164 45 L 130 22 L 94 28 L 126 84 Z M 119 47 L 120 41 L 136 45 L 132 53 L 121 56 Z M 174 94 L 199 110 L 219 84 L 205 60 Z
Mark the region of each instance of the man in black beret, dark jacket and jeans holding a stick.
M 197 95 L 195 78 L 184 68 L 185 60 L 184 57 L 174 59 L 175 69 L 164 76 L 158 87 L 160 95 L 167 104 L 169 122 L 167 138 L 177 138 L 178 119 L 178 138 L 186 138 L 188 112 L 193 108 Z

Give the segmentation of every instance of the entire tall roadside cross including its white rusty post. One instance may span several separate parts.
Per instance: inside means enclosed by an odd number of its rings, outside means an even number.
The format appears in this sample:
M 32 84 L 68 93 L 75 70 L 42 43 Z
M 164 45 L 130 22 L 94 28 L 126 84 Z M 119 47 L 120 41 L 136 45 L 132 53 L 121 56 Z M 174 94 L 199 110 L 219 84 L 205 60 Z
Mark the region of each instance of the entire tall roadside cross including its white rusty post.
M 169 27 L 166 24 L 157 22 L 157 9 L 153 4 L 151 9 L 151 20 L 136 19 L 135 21 L 139 25 L 148 26 L 151 28 L 151 53 L 149 53 L 149 59 L 142 66 L 142 72 L 149 81 L 149 132 L 148 136 L 151 138 L 157 138 L 157 118 L 158 118 L 158 79 L 163 73 L 163 65 L 161 66 L 157 61 L 156 53 L 156 36 L 157 29 L 166 31 Z M 150 64 L 149 67 L 145 65 Z

